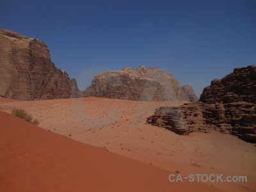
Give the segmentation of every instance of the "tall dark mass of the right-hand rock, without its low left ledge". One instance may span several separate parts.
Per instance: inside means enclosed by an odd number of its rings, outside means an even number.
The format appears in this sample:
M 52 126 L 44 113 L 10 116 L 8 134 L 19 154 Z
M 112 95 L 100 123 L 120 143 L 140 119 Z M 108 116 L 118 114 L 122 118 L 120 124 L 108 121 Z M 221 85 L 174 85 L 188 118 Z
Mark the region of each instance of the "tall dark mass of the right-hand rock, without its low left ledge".
M 235 68 L 223 79 L 214 79 L 204 89 L 200 101 L 207 124 L 215 129 L 256 142 L 256 66 Z

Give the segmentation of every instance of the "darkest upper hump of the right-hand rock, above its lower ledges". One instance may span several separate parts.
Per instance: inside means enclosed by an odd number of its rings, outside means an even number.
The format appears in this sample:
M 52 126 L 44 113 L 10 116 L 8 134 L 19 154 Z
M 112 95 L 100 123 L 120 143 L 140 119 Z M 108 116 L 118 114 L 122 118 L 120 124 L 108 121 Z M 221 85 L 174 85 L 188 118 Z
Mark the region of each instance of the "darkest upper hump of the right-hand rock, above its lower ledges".
M 208 104 L 239 101 L 256 103 L 256 67 L 235 68 L 228 76 L 214 79 L 210 86 L 204 88 L 200 101 Z

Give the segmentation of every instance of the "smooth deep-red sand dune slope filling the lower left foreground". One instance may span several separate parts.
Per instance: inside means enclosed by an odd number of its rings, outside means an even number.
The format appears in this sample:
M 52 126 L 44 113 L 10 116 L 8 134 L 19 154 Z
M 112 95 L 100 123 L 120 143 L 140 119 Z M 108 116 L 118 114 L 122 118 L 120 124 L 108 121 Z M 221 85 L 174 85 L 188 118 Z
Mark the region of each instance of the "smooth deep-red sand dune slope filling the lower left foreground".
M 0 191 L 222 191 L 0 111 Z

